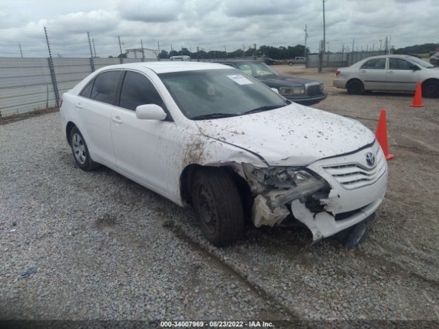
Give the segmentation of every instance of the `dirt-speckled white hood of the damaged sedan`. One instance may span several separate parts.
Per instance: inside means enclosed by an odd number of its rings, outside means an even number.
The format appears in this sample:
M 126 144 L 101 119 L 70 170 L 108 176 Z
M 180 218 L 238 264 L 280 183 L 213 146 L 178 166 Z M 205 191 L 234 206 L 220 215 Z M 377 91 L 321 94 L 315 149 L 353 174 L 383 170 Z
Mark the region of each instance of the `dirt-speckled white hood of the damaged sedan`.
M 258 154 L 270 165 L 305 166 L 375 141 L 374 134 L 358 121 L 296 103 L 195 122 L 202 134 Z

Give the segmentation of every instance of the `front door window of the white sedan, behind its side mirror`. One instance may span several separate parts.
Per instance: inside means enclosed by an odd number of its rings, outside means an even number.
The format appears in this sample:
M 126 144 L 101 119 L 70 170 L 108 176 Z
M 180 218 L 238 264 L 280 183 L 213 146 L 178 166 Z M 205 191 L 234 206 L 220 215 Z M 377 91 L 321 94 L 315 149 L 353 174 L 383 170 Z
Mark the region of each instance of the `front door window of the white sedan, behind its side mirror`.
M 119 106 L 135 111 L 137 106 L 156 104 L 166 112 L 165 103 L 152 82 L 140 73 L 127 71 L 123 79 Z

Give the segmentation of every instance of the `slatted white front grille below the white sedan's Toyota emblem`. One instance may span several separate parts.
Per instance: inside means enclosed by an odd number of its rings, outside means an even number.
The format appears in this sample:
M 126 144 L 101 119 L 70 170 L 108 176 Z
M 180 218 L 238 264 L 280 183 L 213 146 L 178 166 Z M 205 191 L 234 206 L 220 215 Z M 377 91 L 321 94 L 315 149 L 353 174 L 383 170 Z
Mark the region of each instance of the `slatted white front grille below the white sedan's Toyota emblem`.
M 348 190 L 374 184 L 385 173 L 385 158 L 381 151 L 375 154 L 375 167 L 368 168 L 364 164 L 353 162 L 335 164 L 323 168 Z

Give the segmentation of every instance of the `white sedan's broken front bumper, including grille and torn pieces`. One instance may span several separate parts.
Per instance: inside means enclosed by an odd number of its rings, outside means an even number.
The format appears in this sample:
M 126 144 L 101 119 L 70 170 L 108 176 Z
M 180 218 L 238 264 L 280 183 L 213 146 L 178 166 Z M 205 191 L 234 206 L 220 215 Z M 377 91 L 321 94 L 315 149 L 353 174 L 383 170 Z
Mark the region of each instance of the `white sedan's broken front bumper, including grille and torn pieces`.
M 368 152 L 375 155 L 374 166 L 366 163 L 365 155 Z M 320 197 L 316 197 L 318 193 L 312 192 L 271 209 L 268 208 L 270 202 L 261 202 L 261 196 L 258 196 L 253 208 L 256 226 L 281 223 L 289 215 L 289 208 L 293 217 L 304 223 L 311 230 L 313 240 L 317 241 L 363 221 L 383 202 L 388 182 L 388 167 L 377 141 L 353 154 L 318 160 L 309 164 L 307 168 L 329 184 L 329 192 L 320 193 Z M 269 195 L 265 195 L 265 199 L 274 199 L 281 194 L 285 195 L 285 191 L 273 190 Z M 316 207 L 307 208 L 308 198 L 320 202 L 322 208 L 319 211 L 315 210 Z M 270 212 L 276 214 L 276 217 L 270 218 Z M 262 215 L 258 216 L 260 214 Z

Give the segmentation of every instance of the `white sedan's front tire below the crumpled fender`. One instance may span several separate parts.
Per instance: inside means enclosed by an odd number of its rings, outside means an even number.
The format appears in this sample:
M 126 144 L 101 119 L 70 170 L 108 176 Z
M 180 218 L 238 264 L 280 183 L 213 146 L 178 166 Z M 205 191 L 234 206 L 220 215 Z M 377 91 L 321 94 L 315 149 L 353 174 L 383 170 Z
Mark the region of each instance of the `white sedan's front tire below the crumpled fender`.
M 244 210 L 230 175 L 221 169 L 201 169 L 191 185 L 195 217 L 206 239 L 217 247 L 237 241 L 244 230 Z

